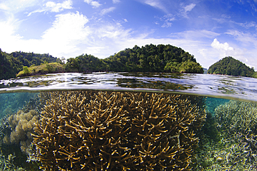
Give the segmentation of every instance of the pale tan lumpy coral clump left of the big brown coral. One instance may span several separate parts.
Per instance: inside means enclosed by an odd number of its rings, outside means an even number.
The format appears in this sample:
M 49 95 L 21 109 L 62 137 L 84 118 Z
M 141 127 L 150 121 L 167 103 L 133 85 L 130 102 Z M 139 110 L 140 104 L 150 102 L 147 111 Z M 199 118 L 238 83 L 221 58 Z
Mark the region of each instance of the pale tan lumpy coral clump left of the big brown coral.
M 6 145 L 17 144 L 20 145 L 22 152 L 31 155 L 31 142 L 33 127 L 38 120 L 38 115 L 31 110 L 28 113 L 18 111 L 15 115 L 10 115 L 7 118 L 6 133 L 3 137 L 3 143 Z

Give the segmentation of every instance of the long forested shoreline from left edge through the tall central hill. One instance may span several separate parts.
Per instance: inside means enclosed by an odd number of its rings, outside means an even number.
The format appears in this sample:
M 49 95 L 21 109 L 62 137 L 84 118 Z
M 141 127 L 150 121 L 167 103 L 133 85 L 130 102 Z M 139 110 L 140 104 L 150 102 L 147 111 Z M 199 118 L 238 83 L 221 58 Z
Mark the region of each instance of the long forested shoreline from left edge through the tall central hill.
M 56 72 L 204 73 L 194 56 L 170 44 L 147 44 L 144 47 L 135 45 L 132 49 L 124 49 L 104 59 L 82 54 L 67 59 L 67 63 L 49 54 L 21 51 L 7 54 L 1 49 L 0 52 L 0 79 Z

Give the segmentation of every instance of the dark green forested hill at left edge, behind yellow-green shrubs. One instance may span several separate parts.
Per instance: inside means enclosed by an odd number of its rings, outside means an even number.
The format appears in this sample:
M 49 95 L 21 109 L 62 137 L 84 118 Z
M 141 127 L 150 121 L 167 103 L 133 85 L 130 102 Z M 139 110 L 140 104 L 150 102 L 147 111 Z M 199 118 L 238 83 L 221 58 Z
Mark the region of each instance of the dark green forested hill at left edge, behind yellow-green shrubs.
M 11 54 L 0 49 L 0 80 L 15 78 L 18 72 L 26 67 L 41 65 L 42 63 L 62 63 L 59 58 L 49 54 L 34 54 L 15 51 Z

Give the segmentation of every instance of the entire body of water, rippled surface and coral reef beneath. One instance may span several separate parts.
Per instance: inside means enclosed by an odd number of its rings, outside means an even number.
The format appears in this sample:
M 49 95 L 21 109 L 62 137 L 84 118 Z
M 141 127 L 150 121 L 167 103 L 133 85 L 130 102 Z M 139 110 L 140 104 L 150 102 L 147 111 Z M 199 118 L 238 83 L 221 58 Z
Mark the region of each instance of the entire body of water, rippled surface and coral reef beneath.
M 0 170 L 257 170 L 257 81 L 63 73 L 0 81 Z

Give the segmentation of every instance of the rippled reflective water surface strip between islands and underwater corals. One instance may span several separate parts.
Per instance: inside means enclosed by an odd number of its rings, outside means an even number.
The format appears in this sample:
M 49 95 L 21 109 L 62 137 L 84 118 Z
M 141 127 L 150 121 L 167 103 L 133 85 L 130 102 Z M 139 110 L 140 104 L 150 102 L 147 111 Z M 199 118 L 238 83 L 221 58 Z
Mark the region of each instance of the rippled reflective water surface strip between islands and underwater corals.
M 0 93 L 115 90 L 185 93 L 257 101 L 257 79 L 212 74 L 62 73 L 0 81 Z

